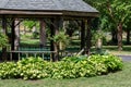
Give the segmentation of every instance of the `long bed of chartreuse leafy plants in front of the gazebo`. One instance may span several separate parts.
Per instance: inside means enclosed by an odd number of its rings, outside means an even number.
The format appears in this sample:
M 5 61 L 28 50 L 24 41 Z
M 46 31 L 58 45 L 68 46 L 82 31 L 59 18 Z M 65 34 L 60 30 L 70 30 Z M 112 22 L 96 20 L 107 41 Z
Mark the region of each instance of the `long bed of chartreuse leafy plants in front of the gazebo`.
M 123 63 L 115 55 L 66 57 L 59 62 L 26 58 L 19 62 L 0 63 L 0 78 L 78 78 L 106 75 L 121 71 Z

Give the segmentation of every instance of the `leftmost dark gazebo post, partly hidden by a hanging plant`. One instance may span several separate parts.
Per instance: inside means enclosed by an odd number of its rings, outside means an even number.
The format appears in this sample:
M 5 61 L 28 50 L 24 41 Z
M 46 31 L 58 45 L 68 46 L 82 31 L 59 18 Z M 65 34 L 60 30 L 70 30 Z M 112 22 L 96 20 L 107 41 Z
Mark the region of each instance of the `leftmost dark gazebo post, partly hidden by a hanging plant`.
M 2 33 L 7 35 L 7 17 L 5 16 L 2 16 Z M 3 61 L 8 60 L 7 47 L 2 48 L 2 60 Z

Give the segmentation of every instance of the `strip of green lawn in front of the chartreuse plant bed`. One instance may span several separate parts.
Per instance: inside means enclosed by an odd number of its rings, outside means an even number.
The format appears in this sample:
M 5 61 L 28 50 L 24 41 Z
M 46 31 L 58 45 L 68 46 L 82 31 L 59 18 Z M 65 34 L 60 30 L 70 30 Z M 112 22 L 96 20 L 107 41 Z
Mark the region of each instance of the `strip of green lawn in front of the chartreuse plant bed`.
M 0 87 L 131 87 L 131 62 L 124 62 L 123 71 L 108 75 L 76 79 L 0 79 Z

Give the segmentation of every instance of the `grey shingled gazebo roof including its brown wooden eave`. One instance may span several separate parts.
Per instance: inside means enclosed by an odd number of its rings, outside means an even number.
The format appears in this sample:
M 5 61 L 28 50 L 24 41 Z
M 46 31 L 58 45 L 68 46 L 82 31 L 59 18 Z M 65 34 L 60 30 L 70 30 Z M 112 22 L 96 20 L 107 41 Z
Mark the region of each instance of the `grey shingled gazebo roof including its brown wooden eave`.
M 83 0 L 0 0 L 0 14 L 97 16 Z

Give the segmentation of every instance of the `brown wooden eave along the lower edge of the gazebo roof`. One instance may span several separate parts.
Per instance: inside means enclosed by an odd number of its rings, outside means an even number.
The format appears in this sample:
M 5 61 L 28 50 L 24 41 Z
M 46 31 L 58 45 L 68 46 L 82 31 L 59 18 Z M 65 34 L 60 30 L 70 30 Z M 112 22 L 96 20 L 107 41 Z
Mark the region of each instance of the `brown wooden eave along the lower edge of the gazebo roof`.
M 98 17 L 99 13 L 98 12 L 80 12 L 80 11 L 50 11 L 50 10 L 0 10 L 0 15 L 43 15 L 43 16 L 93 16 L 93 17 Z

